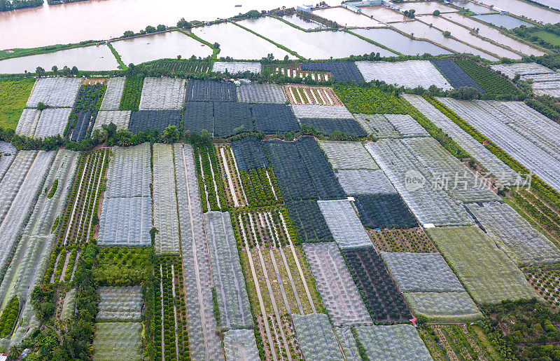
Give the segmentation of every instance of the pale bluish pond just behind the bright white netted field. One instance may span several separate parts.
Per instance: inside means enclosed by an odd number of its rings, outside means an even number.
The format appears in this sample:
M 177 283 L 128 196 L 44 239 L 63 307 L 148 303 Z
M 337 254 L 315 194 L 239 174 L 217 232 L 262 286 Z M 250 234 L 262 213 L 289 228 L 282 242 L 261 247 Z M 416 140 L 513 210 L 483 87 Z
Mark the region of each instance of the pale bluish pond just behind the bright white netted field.
M 399 32 L 395 32 L 393 29 L 353 29 L 352 32 L 365 36 L 367 39 L 377 41 L 404 55 L 423 55 L 424 53 L 431 55 L 451 54 L 449 51 L 435 46 L 433 43 L 410 39 Z

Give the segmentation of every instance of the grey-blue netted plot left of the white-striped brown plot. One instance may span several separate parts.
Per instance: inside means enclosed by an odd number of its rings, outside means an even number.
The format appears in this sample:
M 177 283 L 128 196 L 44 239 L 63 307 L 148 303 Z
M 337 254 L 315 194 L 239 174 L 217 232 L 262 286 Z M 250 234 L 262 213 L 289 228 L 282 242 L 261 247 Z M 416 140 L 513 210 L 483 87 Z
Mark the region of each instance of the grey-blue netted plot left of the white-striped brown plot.
M 235 85 L 229 81 L 189 79 L 186 101 L 236 102 L 237 91 Z

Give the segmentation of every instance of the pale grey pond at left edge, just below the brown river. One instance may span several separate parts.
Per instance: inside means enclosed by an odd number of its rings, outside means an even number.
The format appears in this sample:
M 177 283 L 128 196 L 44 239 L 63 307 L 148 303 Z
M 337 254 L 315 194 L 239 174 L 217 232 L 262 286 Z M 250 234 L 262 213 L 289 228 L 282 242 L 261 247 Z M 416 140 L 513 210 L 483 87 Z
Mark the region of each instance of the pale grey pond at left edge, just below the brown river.
M 58 69 L 76 66 L 80 70 L 115 70 L 118 62 L 108 46 L 87 46 L 60 50 L 55 53 L 15 57 L 0 61 L 0 74 L 34 72 L 36 67 L 50 71 L 53 65 Z

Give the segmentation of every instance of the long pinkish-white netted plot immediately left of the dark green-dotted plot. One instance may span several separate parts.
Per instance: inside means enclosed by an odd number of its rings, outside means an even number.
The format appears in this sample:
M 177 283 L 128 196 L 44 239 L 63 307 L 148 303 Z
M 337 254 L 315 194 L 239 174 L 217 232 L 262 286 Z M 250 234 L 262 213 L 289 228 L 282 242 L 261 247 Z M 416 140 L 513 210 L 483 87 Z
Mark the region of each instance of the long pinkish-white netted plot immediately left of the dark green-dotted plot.
M 303 250 L 330 320 L 338 326 L 371 324 L 336 243 L 304 243 Z

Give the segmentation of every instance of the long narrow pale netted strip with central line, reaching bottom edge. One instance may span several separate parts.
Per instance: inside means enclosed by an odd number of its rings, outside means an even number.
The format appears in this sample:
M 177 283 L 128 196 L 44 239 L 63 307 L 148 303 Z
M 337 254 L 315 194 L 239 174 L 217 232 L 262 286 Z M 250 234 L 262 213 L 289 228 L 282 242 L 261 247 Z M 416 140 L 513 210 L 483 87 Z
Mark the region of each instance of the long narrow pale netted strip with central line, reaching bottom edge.
M 193 147 L 174 144 L 177 205 L 181 225 L 181 260 L 188 319 L 189 353 L 196 360 L 221 357 L 220 336 L 214 318 L 212 282 L 204 237 L 204 221 L 200 207 L 200 193 L 195 171 Z

